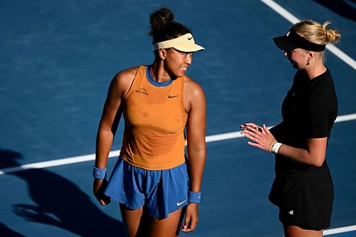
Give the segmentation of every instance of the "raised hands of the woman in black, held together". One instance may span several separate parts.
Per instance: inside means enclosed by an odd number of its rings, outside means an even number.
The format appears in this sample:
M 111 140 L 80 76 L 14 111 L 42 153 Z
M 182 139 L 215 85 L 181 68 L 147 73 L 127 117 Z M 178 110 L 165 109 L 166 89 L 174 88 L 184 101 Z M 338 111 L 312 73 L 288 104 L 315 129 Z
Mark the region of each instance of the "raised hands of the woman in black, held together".
M 276 138 L 273 137 L 272 133 L 268 130 L 266 125 L 258 126 L 252 122 L 248 122 L 240 126 L 243 131 L 242 135 L 251 139 L 253 142 L 247 142 L 253 147 L 258 147 L 265 150 L 266 152 L 271 152 L 271 147 L 274 142 L 277 142 Z

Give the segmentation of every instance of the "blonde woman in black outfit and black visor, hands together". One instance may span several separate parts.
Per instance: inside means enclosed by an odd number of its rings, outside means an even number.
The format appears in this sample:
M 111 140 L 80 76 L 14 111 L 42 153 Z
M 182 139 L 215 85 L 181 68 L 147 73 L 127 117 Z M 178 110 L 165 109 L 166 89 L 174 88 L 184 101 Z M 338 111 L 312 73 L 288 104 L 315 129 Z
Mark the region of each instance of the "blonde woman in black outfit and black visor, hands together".
M 328 24 L 300 21 L 285 36 L 273 38 L 297 69 L 282 104 L 283 121 L 271 130 L 253 122 L 241 125 L 248 144 L 276 154 L 269 200 L 280 209 L 286 237 L 323 236 L 330 226 L 333 181 L 325 155 L 337 98 L 324 51 L 340 33 Z

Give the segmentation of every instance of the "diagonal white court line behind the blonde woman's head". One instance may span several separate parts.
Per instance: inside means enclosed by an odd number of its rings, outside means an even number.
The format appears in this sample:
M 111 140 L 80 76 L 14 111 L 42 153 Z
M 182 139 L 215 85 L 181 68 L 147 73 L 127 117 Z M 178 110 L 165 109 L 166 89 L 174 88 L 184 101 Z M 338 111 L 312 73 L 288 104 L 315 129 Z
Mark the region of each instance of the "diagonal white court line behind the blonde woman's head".
M 261 1 L 264 4 L 266 4 L 267 6 L 269 6 L 271 9 L 273 9 L 273 11 L 276 11 L 278 14 L 283 16 L 283 18 L 286 19 L 287 21 L 289 21 L 290 23 L 294 24 L 294 23 L 297 23 L 298 21 L 300 21 L 300 19 L 298 19 L 295 16 L 293 16 L 293 14 L 290 14 L 289 11 L 287 11 L 286 9 L 283 9 L 283 7 L 281 5 L 276 4 L 275 1 L 272 1 L 272 0 L 261 0 Z M 333 46 L 331 44 L 328 44 L 326 46 L 326 48 L 328 48 L 328 50 L 331 53 L 334 53 L 335 56 L 337 56 L 337 58 L 340 58 L 345 63 L 347 63 L 347 65 L 350 65 L 351 68 L 356 70 L 356 61 L 353 60 L 346 53 L 340 51 L 339 48 L 336 48 L 335 46 Z

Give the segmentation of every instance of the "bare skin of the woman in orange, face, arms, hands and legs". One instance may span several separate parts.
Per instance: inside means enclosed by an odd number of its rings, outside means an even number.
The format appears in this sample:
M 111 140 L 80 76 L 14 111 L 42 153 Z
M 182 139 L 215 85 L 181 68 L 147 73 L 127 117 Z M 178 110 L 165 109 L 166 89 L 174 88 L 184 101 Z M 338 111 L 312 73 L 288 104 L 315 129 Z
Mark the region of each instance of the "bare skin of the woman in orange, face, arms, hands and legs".
M 187 119 L 187 162 L 189 174 L 189 190 L 199 192 L 203 176 L 206 145 L 206 101 L 201 86 L 192 78 L 185 75 L 187 68 L 192 64 L 193 53 L 176 51 L 173 48 L 159 49 L 159 57 L 152 64 L 152 77 L 157 82 L 184 77 L 184 109 L 188 114 Z M 123 98 L 130 89 L 132 80 L 138 67 L 122 70 L 113 78 L 105 101 L 103 115 L 100 120 L 95 167 L 103 169 L 107 165 L 108 154 L 117 130 L 117 125 L 122 115 Z M 106 181 L 95 179 L 93 192 L 102 205 L 110 203 L 110 198 L 103 195 Z M 179 218 L 182 209 L 169 214 L 168 218 L 159 220 L 145 214 L 145 206 L 136 210 L 127 209 L 120 204 L 120 210 L 125 223 L 127 236 L 176 236 Z M 182 222 L 182 231 L 192 232 L 199 221 L 198 204 L 189 203 L 184 208 L 185 218 Z M 180 228 L 180 226 L 179 226 Z

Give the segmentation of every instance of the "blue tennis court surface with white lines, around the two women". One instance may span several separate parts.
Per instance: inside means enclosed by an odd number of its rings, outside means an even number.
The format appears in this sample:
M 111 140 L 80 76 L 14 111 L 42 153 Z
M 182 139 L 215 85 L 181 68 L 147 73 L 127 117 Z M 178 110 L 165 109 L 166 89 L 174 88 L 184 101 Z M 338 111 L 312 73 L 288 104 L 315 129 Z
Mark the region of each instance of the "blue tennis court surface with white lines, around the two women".
M 150 13 L 168 6 L 206 51 L 187 74 L 207 100 L 207 159 L 194 233 L 283 236 L 268 201 L 271 154 L 239 125 L 281 121 L 295 69 L 272 38 L 295 19 L 332 21 L 328 48 L 339 117 L 328 145 L 335 185 L 325 236 L 356 236 L 356 3 L 354 0 L 0 1 L 0 236 L 124 236 L 115 202 L 92 194 L 95 136 L 111 78 L 150 64 Z M 108 162 L 120 149 L 122 125 Z

